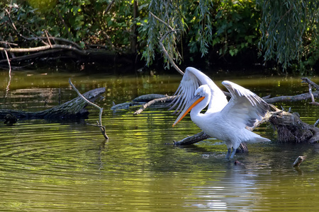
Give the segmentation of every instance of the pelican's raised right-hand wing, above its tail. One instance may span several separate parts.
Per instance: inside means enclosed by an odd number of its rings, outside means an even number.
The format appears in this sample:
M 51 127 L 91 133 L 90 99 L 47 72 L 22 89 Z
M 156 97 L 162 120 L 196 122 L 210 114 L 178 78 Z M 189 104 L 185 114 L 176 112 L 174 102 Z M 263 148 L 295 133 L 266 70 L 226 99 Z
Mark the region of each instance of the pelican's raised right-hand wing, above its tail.
M 230 81 L 223 81 L 222 84 L 229 90 L 232 98 L 221 111 L 221 114 L 225 120 L 234 123 L 234 126 L 240 128 L 252 127 L 269 110 L 267 102 L 250 90 Z

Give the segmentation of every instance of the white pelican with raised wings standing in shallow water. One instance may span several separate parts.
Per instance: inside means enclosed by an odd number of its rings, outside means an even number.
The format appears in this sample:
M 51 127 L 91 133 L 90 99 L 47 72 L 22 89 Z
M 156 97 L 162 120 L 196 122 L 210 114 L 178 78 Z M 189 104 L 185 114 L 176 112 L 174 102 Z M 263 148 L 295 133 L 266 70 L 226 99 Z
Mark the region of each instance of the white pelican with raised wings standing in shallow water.
M 230 81 L 223 81 L 231 95 L 228 102 L 223 91 L 201 71 L 188 67 L 172 102 L 172 110 L 181 111 L 173 126 L 191 111 L 191 120 L 208 136 L 225 141 L 228 153 L 225 158 L 233 158 L 242 142 L 256 143 L 270 141 L 247 127 L 261 120 L 269 105 L 258 95 Z M 205 113 L 201 111 L 207 107 Z M 232 152 L 233 148 L 233 152 Z

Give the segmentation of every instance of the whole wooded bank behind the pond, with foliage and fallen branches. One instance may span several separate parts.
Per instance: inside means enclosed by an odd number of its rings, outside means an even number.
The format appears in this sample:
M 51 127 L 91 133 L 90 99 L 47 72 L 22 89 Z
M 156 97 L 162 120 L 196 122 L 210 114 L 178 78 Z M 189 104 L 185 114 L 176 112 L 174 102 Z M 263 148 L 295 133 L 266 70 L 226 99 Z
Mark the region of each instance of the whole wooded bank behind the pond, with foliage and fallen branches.
M 171 57 L 179 66 L 203 69 L 316 71 L 319 3 L 273 4 L 266 0 L 1 1 L 0 69 L 58 64 L 83 70 L 101 64 L 130 66 L 134 71 L 170 67 Z M 162 47 L 169 57 L 162 54 Z

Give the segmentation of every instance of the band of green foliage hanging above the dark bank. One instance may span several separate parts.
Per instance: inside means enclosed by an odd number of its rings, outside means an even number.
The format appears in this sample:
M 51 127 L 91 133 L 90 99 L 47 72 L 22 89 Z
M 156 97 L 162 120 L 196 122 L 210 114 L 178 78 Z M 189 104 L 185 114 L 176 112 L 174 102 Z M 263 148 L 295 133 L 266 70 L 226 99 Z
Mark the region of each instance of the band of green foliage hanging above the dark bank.
M 137 11 L 134 2 L 0 1 L 0 41 L 23 47 L 20 35 L 48 33 L 82 47 L 99 45 L 113 52 L 130 52 L 136 39 L 138 54 L 150 65 L 161 51 L 160 38 L 174 29 L 178 31 L 169 33 L 162 44 L 179 63 L 184 52 L 189 57 L 206 57 L 211 52 L 235 57 L 247 49 L 259 49 L 265 61 L 276 60 L 284 69 L 291 64 L 307 69 L 319 59 L 319 1 L 140 0 Z M 169 66 L 166 58 L 164 61 Z

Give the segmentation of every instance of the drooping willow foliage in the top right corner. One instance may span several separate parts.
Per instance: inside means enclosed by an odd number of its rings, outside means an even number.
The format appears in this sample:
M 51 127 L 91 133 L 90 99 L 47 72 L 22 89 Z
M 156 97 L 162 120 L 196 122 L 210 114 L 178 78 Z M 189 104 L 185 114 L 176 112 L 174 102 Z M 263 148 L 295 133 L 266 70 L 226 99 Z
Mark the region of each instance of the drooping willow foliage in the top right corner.
M 262 8 L 264 59 L 276 59 L 284 69 L 292 61 L 299 68 L 314 64 L 318 57 L 319 1 L 258 0 Z

